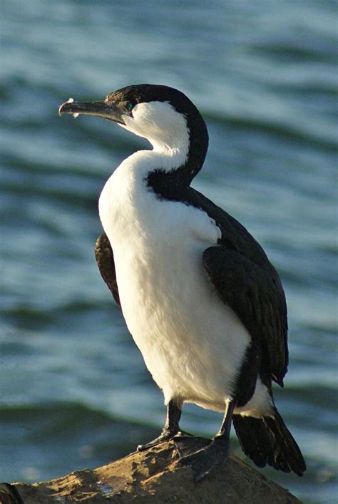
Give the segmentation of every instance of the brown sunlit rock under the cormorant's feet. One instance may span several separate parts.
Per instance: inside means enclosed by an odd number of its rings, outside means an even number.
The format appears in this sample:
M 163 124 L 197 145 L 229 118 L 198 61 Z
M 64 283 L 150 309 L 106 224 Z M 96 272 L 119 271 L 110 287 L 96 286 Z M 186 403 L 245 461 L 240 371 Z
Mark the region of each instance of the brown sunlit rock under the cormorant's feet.
M 207 443 L 195 438 L 199 446 Z M 56 480 L 29 485 L 13 483 L 5 500 L 0 488 L 0 503 L 300 503 L 285 488 L 265 478 L 239 458 L 231 456 L 215 473 L 195 483 L 193 471 L 180 466 L 180 453 L 191 451 L 191 440 L 170 441 L 148 451 L 130 453 L 118 461 L 91 470 L 83 469 Z M 4 488 L 4 487 L 3 487 Z M 16 495 L 15 495 L 16 494 Z M 2 498 L 2 500 L 1 500 Z M 11 500 L 9 500 L 11 498 Z

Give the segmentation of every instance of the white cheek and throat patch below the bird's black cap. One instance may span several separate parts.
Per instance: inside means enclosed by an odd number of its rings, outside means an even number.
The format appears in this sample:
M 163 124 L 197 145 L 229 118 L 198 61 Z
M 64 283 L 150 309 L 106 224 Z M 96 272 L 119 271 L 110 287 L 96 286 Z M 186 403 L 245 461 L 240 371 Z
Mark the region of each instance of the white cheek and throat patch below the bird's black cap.
M 138 103 L 133 115 L 123 115 L 123 120 L 126 124 L 120 124 L 122 128 L 147 138 L 153 145 L 154 158 L 159 156 L 165 160 L 163 166 L 157 168 L 172 170 L 185 164 L 190 146 L 187 120 L 170 103 Z

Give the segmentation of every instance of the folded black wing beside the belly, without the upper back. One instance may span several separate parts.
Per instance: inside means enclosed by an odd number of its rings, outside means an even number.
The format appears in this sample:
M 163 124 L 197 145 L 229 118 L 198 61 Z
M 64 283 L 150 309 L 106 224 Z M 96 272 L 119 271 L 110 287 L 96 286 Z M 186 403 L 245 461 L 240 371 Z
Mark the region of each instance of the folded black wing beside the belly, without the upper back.
M 270 377 L 282 386 L 287 355 L 280 284 L 255 262 L 222 245 L 205 250 L 203 263 L 222 302 L 232 308 L 252 336 L 256 351 L 252 358 L 258 359 L 259 365 L 261 349 Z

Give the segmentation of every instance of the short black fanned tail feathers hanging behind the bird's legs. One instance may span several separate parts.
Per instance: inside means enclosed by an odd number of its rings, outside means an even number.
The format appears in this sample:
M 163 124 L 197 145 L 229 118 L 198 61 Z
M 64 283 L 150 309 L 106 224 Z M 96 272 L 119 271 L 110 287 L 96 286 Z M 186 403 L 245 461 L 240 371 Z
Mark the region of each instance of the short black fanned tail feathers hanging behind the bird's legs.
M 234 415 L 232 421 L 242 450 L 256 466 L 269 464 L 285 473 L 293 470 L 297 475 L 303 475 L 306 470 L 304 458 L 277 409 L 274 418 Z

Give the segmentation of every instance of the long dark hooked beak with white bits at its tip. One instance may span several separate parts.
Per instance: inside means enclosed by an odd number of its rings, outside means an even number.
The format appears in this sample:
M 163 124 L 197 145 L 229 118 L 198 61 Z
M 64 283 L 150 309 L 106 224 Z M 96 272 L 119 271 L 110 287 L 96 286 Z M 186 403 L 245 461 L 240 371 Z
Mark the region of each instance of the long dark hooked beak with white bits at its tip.
M 98 115 L 104 119 L 113 120 L 119 124 L 125 124 L 122 115 L 126 114 L 126 110 L 123 110 L 118 103 L 108 103 L 107 101 L 91 101 L 88 103 L 80 103 L 73 101 L 73 98 L 69 98 L 68 101 L 62 103 L 58 108 L 58 115 L 61 114 L 72 114 L 75 118 L 79 114 L 86 115 Z

